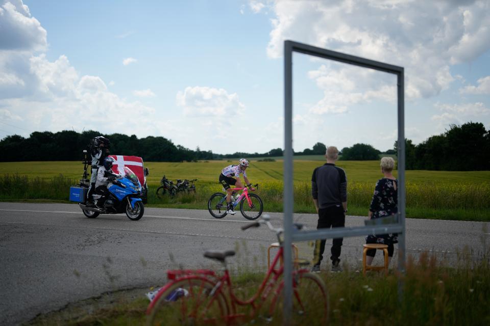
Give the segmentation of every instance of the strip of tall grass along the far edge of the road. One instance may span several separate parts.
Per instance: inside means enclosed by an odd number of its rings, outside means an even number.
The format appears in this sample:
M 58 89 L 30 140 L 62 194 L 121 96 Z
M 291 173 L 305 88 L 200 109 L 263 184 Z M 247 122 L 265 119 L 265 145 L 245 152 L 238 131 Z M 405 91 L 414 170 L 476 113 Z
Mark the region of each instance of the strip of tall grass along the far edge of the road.
M 28 178 L 19 174 L 0 175 L 0 200 L 69 200 L 69 187 L 75 179 L 63 175 L 49 179 Z M 222 186 L 209 180 L 197 182 L 195 194 L 179 193 L 176 197 L 158 198 L 159 183 L 149 184 L 148 205 L 169 208 L 206 209 L 211 194 L 222 192 Z M 406 183 L 406 207 L 409 218 L 490 221 L 490 183 L 419 181 Z M 314 213 L 310 182 L 295 181 L 293 184 L 294 209 L 297 213 Z M 349 214 L 367 215 L 374 192 L 374 183 L 349 182 Z M 283 182 L 264 181 L 257 194 L 262 198 L 264 211 L 283 210 Z

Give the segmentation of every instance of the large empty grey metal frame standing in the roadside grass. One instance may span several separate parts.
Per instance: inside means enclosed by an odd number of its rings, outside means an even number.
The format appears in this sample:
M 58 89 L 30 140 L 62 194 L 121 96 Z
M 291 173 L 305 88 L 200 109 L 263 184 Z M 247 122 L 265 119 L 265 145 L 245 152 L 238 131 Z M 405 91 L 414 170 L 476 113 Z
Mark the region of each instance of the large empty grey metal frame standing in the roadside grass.
M 292 53 L 320 57 L 364 68 L 397 75 L 398 87 L 398 223 L 370 225 L 353 228 L 293 231 L 293 184 L 292 184 Z M 368 234 L 399 233 L 398 269 L 405 268 L 405 117 L 404 117 L 404 69 L 383 62 L 346 55 L 290 40 L 284 41 L 284 323 L 287 324 L 292 309 L 292 252 L 293 241 L 330 239 Z M 401 289 L 399 283 L 399 290 Z

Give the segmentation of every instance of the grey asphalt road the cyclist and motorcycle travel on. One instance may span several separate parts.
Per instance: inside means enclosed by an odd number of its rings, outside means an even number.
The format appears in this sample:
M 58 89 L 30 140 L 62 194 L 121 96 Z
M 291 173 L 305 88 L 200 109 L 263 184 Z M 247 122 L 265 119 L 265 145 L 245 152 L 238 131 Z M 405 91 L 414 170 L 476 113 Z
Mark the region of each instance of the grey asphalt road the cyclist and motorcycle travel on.
M 282 225 L 281 214 L 270 215 Z M 346 226 L 363 220 L 348 216 Z M 312 214 L 296 214 L 295 221 L 316 226 Z M 115 289 L 161 285 L 167 268 L 217 267 L 203 258 L 206 249 L 238 250 L 232 268 L 263 266 L 275 235 L 266 228 L 243 232 L 246 223 L 239 214 L 217 220 L 206 210 L 147 207 L 134 222 L 122 214 L 87 219 L 74 204 L 0 203 L 0 324 Z M 488 223 L 486 229 L 476 222 L 409 219 L 406 225 L 408 254 L 430 250 L 454 262 L 465 246 L 479 251 L 483 239 L 490 242 Z M 344 239 L 342 261 L 359 268 L 363 243 Z M 300 257 L 311 259 L 307 243 L 299 248 Z

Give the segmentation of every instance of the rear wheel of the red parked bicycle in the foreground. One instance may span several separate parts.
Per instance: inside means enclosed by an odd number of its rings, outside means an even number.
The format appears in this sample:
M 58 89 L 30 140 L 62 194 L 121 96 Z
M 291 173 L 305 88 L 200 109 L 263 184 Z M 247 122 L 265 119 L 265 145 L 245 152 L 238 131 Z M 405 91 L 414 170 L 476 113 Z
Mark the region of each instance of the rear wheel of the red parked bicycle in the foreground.
M 199 276 L 175 281 L 150 304 L 146 325 L 226 324 L 228 306 L 222 292 L 212 292 L 214 286 L 213 281 Z

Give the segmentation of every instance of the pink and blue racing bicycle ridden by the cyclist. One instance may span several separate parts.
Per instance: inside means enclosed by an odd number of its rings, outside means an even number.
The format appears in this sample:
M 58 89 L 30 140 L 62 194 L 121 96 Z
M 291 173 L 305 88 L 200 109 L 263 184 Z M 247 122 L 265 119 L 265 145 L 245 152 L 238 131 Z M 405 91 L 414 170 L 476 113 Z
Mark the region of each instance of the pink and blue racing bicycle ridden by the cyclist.
M 259 185 L 251 184 L 251 186 L 258 189 Z M 223 189 L 224 191 L 225 189 Z M 240 212 L 244 218 L 247 220 L 256 220 L 262 214 L 264 209 L 264 204 L 262 199 L 258 195 L 249 194 L 249 189 L 247 186 L 242 188 L 232 188 L 235 192 L 241 191 L 240 195 L 234 196 L 232 194 L 232 205 L 235 208 L 238 204 L 240 205 Z M 214 193 L 208 200 L 208 210 L 216 219 L 222 219 L 226 216 L 226 194 L 224 193 Z

